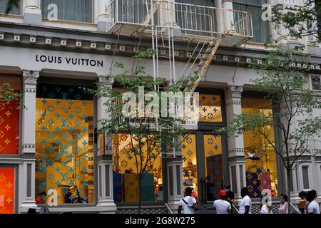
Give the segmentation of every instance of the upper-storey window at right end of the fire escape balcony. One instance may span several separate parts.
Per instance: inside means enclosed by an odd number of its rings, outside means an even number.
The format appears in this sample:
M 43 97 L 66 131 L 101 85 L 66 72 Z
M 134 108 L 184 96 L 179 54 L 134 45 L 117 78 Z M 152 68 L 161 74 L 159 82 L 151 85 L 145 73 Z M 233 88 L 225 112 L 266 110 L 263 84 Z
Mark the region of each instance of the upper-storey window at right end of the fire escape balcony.
M 233 9 L 250 12 L 253 21 L 253 42 L 265 43 L 269 41 L 269 24 L 263 21 L 262 5 L 266 0 L 233 0 Z

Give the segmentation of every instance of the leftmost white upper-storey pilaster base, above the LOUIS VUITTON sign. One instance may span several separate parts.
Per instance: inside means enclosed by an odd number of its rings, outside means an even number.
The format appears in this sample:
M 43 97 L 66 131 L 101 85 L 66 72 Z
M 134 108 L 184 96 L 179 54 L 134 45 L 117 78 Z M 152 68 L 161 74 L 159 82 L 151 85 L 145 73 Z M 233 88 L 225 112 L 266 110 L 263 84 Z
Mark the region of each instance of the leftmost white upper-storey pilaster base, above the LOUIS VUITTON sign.
M 24 0 L 24 23 L 40 25 L 42 15 L 40 9 L 40 0 Z

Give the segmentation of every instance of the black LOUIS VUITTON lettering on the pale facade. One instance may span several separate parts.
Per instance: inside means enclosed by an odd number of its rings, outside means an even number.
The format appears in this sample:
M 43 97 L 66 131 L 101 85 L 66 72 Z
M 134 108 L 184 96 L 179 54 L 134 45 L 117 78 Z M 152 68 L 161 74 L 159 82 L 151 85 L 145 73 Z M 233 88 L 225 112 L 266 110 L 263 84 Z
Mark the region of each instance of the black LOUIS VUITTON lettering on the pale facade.
M 103 67 L 103 61 L 91 58 L 73 58 L 62 56 L 36 55 L 36 62 L 67 64 L 71 66 Z

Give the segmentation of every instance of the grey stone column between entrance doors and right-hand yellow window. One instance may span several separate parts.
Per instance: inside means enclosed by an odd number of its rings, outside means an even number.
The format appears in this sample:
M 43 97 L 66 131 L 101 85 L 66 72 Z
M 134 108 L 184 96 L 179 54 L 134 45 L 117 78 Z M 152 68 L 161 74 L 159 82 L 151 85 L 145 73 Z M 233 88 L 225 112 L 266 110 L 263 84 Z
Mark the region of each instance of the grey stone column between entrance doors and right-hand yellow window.
M 241 97 L 243 87 L 230 86 L 225 91 L 226 116 L 228 124 L 233 121 L 234 115 L 242 113 Z M 228 167 L 230 172 L 230 185 L 235 192 L 235 199 L 240 199 L 240 190 L 246 187 L 245 154 L 243 135 L 228 135 Z

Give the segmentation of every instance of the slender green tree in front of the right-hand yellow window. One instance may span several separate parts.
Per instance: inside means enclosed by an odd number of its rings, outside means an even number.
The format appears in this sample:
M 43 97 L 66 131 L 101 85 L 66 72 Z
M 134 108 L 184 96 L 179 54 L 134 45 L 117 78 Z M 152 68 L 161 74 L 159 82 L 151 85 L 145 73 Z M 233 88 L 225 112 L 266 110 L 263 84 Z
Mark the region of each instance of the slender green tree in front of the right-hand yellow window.
M 250 130 L 265 139 L 285 167 L 290 205 L 291 171 L 305 162 L 302 160 L 302 155 L 309 152 L 310 143 L 320 137 L 321 118 L 310 118 L 310 115 L 314 108 L 321 108 L 321 105 L 315 96 L 315 91 L 306 86 L 304 74 L 308 69 L 292 64 L 302 63 L 304 59 L 296 58 L 294 50 L 282 46 L 277 48 L 269 46 L 268 50 L 270 54 L 262 65 L 256 64 L 257 60 L 252 61 L 254 63 L 251 67 L 258 70 L 259 77 L 251 80 L 251 83 L 265 93 L 265 98 L 271 100 L 275 107 L 274 113 L 235 115 L 233 122 L 218 132 L 240 135 Z M 279 133 L 280 142 L 274 142 L 269 137 L 265 130 L 269 126 Z

